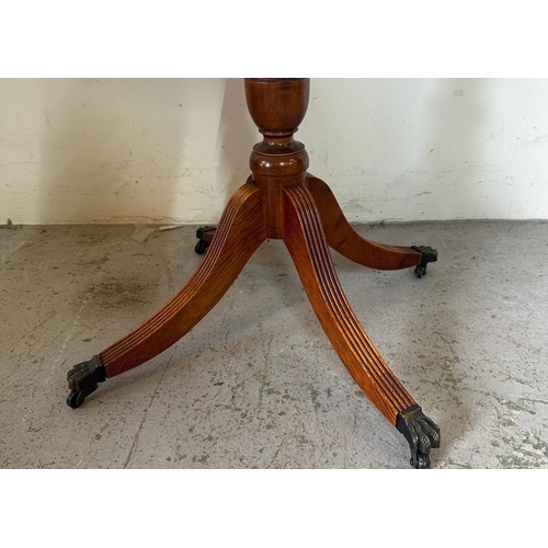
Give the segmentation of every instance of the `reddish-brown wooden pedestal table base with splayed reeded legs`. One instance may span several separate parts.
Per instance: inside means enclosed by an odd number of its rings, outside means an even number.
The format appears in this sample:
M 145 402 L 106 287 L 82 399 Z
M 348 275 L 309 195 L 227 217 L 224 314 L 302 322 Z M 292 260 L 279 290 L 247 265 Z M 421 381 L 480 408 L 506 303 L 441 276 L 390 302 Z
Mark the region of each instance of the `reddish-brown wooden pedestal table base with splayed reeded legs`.
M 204 262 L 152 318 L 69 372 L 72 391 L 67 402 L 79 407 L 96 383 L 142 364 L 181 339 L 219 301 L 264 239 L 278 238 L 287 246 L 312 308 L 347 370 L 410 441 L 413 466 L 427 467 L 430 447 L 438 445 L 437 426 L 422 415 L 361 326 L 328 246 L 381 270 L 419 265 L 422 253 L 362 238 L 329 186 L 308 173 L 305 146 L 294 138 L 308 106 L 308 79 L 247 79 L 246 99 L 263 140 L 253 147 L 252 175 L 230 198 Z

